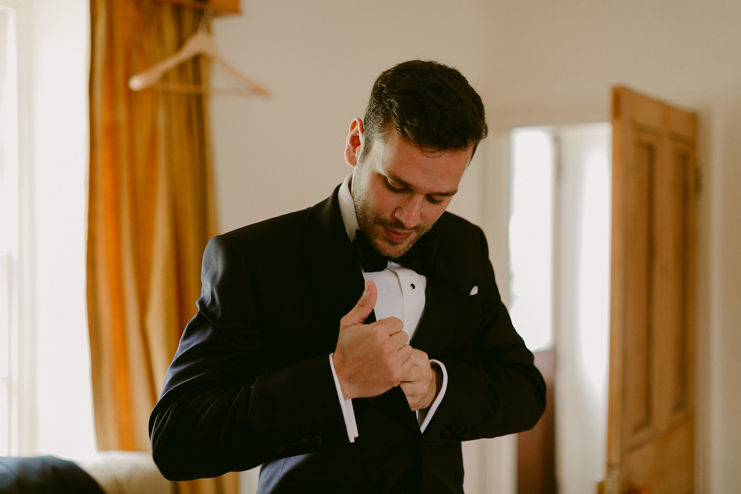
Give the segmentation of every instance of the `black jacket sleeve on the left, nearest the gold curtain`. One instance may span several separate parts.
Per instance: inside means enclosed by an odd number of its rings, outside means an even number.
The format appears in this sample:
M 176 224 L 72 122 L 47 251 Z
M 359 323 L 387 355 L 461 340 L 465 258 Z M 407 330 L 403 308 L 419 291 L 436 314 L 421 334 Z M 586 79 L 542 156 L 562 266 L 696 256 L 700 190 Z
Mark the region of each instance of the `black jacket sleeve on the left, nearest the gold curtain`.
M 250 274 L 225 236 L 208 243 L 198 313 L 165 375 L 149 433 L 169 480 L 214 477 L 349 444 L 329 354 L 270 370 Z M 263 324 L 264 325 L 264 324 Z

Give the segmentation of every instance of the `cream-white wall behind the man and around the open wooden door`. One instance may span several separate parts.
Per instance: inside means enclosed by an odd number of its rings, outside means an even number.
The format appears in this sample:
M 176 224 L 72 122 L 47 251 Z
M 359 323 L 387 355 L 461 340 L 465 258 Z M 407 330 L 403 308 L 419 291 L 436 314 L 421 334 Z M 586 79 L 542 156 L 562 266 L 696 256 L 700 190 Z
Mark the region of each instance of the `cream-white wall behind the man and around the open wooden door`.
M 213 99 L 222 230 L 327 196 L 348 173 L 342 159 L 347 126 L 362 116 L 373 79 L 398 61 L 439 59 L 459 67 L 487 107 L 490 137 L 451 210 L 485 228 L 504 293 L 511 127 L 607 121 L 612 84 L 699 110 L 705 188 L 699 204 L 698 492 L 736 490 L 741 3 L 242 0 L 242 10 L 215 21 L 217 41 L 275 97 Z M 488 458 L 502 450 L 496 451 Z M 509 473 L 511 461 L 508 453 L 477 471 Z M 502 480 L 508 473 L 496 477 L 505 490 L 488 492 L 510 492 Z M 489 482 L 482 475 L 467 478 L 468 485 Z

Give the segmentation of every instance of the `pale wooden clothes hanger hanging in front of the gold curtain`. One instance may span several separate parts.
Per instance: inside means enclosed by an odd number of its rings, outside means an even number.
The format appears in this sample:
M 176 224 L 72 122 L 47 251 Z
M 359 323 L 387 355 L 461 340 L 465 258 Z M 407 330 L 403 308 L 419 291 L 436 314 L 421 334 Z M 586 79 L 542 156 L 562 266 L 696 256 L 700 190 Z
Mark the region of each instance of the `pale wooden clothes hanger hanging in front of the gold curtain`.
M 141 91 L 147 87 L 156 87 L 159 90 L 176 91 L 179 93 L 201 93 L 201 94 L 228 94 L 235 96 L 266 96 L 270 97 L 270 90 L 256 83 L 245 74 L 236 70 L 224 57 L 219 53 L 213 38 L 207 31 L 213 11 L 206 9 L 203 19 L 198 27 L 198 31 L 190 36 L 183 47 L 173 55 L 162 60 L 159 64 L 140 72 L 129 79 L 129 87 L 134 91 Z M 162 76 L 168 70 L 177 67 L 184 61 L 192 59 L 196 55 L 204 55 L 207 58 L 218 62 L 228 73 L 234 76 L 245 85 L 245 87 L 217 88 L 207 87 L 199 84 L 183 84 L 181 82 L 161 82 Z

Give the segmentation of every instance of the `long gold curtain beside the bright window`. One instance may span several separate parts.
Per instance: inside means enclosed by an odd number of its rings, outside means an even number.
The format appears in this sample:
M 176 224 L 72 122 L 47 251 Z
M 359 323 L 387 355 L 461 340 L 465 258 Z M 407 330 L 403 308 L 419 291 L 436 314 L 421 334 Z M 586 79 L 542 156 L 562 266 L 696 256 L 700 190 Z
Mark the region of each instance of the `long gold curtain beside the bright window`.
M 87 313 L 99 450 L 149 450 L 149 413 L 200 293 L 216 234 L 207 98 L 133 92 L 130 76 L 175 53 L 202 11 L 91 0 Z M 207 83 L 205 59 L 167 74 Z M 181 482 L 236 493 L 236 474 Z

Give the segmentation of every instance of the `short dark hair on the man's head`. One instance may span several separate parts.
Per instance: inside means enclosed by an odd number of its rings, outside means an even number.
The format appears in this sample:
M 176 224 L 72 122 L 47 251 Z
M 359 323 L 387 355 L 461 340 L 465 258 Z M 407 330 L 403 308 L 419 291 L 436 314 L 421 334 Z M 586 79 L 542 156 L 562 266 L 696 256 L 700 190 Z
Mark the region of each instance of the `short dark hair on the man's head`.
M 473 146 L 475 153 L 488 132 L 481 97 L 462 73 L 436 61 L 405 61 L 378 76 L 365 109 L 361 161 L 392 122 L 399 136 L 432 151 Z

